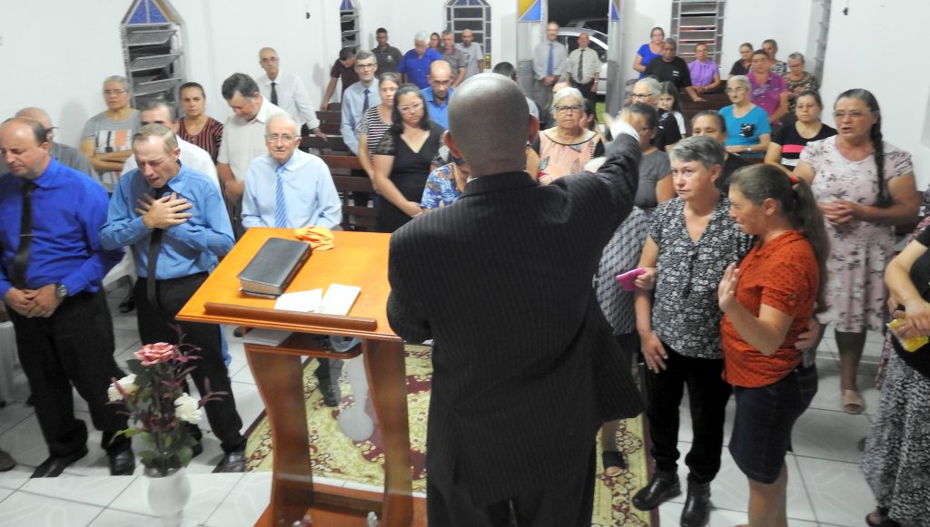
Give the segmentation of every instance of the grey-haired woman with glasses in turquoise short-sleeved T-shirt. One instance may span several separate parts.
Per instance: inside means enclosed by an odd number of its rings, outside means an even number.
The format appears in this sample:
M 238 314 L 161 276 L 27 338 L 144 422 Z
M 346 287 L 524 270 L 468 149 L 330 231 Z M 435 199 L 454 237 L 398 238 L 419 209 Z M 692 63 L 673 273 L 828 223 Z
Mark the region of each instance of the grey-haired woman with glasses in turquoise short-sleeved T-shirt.
M 726 96 L 733 103 L 720 109 L 726 121 L 726 152 L 762 157 L 768 150 L 772 129 L 765 111 L 750 100 L 749 77 L 730 77 L 726 81 Z

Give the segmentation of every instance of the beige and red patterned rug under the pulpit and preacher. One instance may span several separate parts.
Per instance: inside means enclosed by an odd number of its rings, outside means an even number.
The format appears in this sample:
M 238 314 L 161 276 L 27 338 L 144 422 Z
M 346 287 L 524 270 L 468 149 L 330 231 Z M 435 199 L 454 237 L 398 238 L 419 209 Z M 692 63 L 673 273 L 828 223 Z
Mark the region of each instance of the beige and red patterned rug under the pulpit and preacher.
M 361 357 L 355 359 L 361 361 Z M 354 405 L 352 388 L 343 375 L 339 379 L 341 400 L 338 408 L 327 408 L 323 396 L 316 390 L 313 370 L 317 362 L 304 366 L 303 391 L 307 402 L 307 425 L 310 429 L 310 458 L 314 476 L 341 481 L 352 481 L 376 487 L 384 486 L 384 463 L 381 435 L 376 428 L 365 441 L 352 441 L 339 428 L 339 413 Z M 423 346 L 406 347 L 407 411 L 410 419 L 410 454 L 413 462 L 413 490 L 423 493 L 426 488 L 426 421 L 430 406 L 432 364 L 430 349 Z M 272 438 L 268 419 L 264 414 L 250 428 L 246 455 L 247 469 L 272 469 Z M 650 516 L 630 505 L 632 494 L 646 481 L 646 455 L 643 441 L 643 420 L 630 419 L 618 431 L 618 447 L 627 458 L 630 468 L 615 478 L 605 477 L 598 462 L 595 483 L 592 526 L 649 526 Z M 601 458 L 598 448 L 598 460 Z

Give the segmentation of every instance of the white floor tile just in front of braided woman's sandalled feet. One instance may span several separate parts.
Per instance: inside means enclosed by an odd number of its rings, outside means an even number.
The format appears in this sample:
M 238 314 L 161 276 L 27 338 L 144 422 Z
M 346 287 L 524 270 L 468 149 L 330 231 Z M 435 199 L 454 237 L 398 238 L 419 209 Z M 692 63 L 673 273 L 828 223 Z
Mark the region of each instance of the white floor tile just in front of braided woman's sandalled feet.
M 809 408 L 794 425 L 794 454 L 819 459 L 858 463 L 862 453 L 857 441 L 869 433 L 866 415 Z

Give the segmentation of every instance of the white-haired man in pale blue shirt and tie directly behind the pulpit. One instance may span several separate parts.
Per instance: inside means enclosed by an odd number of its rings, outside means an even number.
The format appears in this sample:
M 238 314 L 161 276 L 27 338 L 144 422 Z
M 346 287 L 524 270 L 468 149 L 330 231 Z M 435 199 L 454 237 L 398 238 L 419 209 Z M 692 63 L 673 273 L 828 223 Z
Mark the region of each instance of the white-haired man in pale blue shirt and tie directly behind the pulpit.
M 268 154 L 252 160 L 246 171 L 242 225 L 252 227 L 339 227 L 342 204 L 326 163 L 300 152 L 297 123 L 288 115 L 272 117 L 265 126 Z M 341 369 L 334 361 L 332 369 Z M 339 397 L 330 382 L 330 361 L 320 359 L 315 375 L 327 406 Z

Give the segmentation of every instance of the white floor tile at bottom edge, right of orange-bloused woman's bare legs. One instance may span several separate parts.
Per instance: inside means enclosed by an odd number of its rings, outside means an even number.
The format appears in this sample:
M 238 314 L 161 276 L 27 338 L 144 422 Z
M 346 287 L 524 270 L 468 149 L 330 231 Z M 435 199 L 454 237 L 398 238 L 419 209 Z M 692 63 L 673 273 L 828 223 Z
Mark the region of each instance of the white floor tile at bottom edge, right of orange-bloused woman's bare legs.
M 875 506 L 856 463 L 798 457 L 804 485 L 817 521 L 833 525 L 862 525 Z

